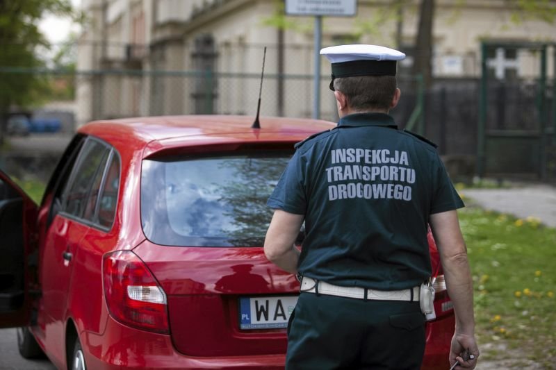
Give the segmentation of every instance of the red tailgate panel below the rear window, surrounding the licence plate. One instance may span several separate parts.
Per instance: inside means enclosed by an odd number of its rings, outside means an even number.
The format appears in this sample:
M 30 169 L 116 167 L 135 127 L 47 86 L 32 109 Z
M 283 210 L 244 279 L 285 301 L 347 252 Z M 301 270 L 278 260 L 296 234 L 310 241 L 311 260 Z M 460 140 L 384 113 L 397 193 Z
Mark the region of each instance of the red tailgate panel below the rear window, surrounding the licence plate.
M 239 296 L 289 295 L 299 290 L 295 276 L 268 262 L 261 248 L 176 248 L 144 242 L 134 252 L 146 261 L 168 296 L 170 330 L 180 353 L 219 356 L 286 351 L 285 330 L 246 333 L 238 327 Z M 238 265 L 248 269 L 234 269 Z M 209 325 L 203 317 L 211 317 Z

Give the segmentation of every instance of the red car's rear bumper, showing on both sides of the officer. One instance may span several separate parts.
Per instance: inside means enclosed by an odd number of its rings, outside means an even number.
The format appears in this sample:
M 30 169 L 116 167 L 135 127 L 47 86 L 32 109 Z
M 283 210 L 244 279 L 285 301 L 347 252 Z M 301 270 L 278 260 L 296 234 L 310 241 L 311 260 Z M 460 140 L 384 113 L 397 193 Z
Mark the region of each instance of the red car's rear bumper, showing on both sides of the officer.
M 423 370 L 448 369 L 455 317 L 427 323 Z M 108 317 L 103 335 L 84 333 L 89 369 L 284 369 L 285 355 L 191 357 L 177 352 L 170 335 L 129 328 Z

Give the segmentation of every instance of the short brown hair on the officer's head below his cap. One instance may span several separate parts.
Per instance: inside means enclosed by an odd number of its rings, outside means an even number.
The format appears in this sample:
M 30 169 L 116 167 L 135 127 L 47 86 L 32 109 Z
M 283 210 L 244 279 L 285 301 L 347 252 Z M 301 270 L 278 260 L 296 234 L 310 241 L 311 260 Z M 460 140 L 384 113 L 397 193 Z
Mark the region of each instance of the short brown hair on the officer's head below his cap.
M 351 76 L 334 79 L 353 110 L 389 110 L 396 89 L 395 76 Z

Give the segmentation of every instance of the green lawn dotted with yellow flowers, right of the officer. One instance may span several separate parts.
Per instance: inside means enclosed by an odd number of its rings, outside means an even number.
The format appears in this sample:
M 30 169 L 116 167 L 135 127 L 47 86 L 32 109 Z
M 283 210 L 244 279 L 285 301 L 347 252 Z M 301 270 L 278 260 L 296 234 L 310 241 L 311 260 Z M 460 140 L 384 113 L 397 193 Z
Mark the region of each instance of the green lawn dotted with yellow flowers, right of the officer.
M 556 229 L 480 208 L 459 212 L 480 343 L 498 342 L 550 368 L 556 360 Z M 491 346 L 489 348 L 500 348 Z M 485 359 L 505 358 L 491 349 Z

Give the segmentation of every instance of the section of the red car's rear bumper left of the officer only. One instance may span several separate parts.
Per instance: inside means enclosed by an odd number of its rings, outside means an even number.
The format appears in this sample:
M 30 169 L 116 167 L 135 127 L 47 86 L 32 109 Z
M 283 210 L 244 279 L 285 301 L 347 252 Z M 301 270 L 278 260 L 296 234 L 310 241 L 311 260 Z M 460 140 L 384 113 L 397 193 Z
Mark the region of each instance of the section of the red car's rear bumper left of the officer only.
M 89 369 L 284 369 L 285 355 L 198 358 L 178 353 L 170 335 L 129 328 L 108 318 L 103 335 L 83 333 Z

